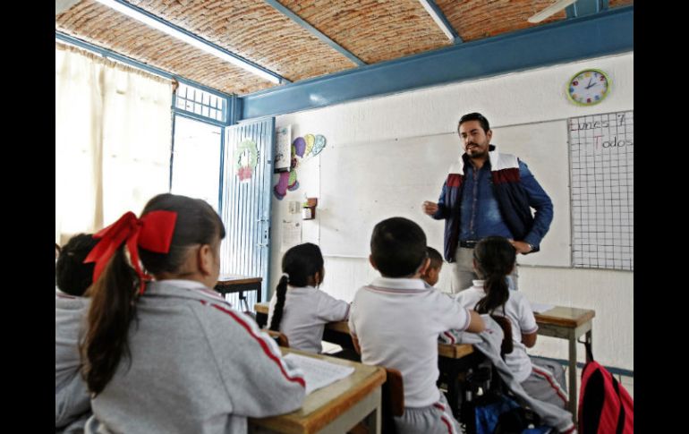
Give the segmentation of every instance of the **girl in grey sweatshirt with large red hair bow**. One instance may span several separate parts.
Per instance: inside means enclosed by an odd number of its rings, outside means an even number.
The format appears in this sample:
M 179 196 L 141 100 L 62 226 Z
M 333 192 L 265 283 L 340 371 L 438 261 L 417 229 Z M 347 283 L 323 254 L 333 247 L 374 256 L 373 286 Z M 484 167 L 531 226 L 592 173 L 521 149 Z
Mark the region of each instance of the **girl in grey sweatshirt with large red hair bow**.
M 245 433 L 301 406 L 302 372 L 210 289 L 225 227 L 208 203 L 160 194 L 95 236 L 86 432 Z

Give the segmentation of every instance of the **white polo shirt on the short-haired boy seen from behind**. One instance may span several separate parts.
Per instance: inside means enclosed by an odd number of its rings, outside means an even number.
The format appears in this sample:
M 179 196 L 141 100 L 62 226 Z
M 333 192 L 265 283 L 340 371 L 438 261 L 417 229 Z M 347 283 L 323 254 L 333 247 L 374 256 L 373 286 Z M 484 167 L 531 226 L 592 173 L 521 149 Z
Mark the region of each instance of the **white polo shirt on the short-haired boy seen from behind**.
M 440 399 L 438 334 L 469 326 L 469 312 L 421 279 L 379 277 L 354 295 L 349 328 L 362 362 L 402 372 L 404 406 Z

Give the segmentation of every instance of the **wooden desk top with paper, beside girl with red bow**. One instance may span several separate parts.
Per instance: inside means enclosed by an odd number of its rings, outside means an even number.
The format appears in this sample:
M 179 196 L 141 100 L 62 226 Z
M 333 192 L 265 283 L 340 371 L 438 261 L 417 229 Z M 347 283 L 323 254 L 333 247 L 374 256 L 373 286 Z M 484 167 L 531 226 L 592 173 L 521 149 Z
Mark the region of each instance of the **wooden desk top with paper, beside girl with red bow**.
M 340 414 L 368 396 L 385 382 L 385 369 L 351 362 L 322 354 L 306 353 L 290 348 L 280 348 L 283 354 L 297 353 L 345 366 L 353 366 L 352 375 L 319 388 L 306 396 L 302 408 L 293 413 L 262 419 L 249 419 L 253 426 L 260 426 L 284 433 L 311 433 L 321 430 Z M 363 419 L 363 416 L 362 416 Z

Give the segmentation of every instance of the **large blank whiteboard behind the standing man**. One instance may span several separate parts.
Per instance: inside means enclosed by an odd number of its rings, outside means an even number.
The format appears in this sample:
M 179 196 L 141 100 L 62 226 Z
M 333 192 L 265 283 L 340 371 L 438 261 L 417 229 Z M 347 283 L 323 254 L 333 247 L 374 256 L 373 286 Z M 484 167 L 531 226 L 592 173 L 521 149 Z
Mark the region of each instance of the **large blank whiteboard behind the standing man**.
M 320 156 L 320 247 L 325 255 L 366 258 L 379 221 L 407 217 L 443 251 L 445 220 L 421 210 L 438 201 L 449 166 L 462 145 L 456 132 L 369 143 L 336 144 Z M 571 266 L 569 162 L 565 120 L 495 128 L 493 144 L 515 154 L 553 200 L 555 217 L 540 252 L 521 264 Z M 504 144 L 504 145 L 503 145 Z

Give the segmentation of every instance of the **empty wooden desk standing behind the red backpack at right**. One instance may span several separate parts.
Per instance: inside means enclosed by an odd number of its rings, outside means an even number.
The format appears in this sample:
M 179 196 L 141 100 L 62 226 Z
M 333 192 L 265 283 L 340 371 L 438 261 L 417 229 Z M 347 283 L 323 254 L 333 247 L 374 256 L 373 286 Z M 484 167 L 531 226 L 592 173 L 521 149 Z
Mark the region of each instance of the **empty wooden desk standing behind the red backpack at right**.
M 586 334 L 584 339 L 591 344 L 591 319 L 596 311 L 590 309 L 555 306 L 549 311 L 534 314 L 539 326 L 538 334 L 559 337 L 569 341 L 569 411 L 576 424 L 576 340 Z

